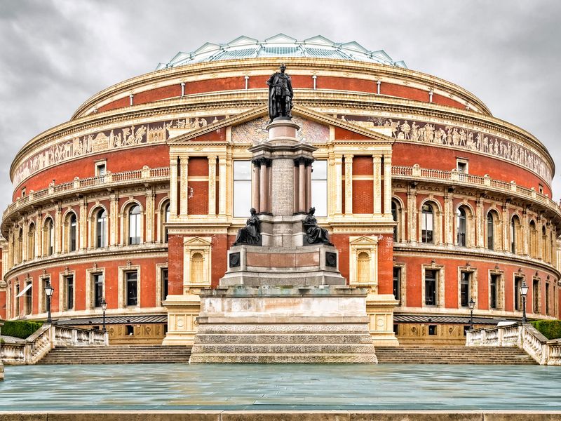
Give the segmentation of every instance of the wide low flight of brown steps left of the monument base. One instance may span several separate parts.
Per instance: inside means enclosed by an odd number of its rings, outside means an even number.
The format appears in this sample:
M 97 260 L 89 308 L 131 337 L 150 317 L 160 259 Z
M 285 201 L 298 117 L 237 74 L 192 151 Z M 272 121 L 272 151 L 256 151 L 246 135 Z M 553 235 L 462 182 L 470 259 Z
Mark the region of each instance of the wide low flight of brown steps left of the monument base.
M 190 347 L 109 346 L 51 349 L 38 364 L 148 364 L 187 363 Z

